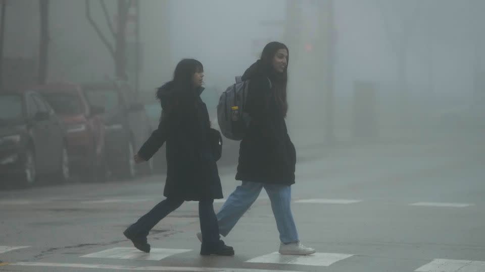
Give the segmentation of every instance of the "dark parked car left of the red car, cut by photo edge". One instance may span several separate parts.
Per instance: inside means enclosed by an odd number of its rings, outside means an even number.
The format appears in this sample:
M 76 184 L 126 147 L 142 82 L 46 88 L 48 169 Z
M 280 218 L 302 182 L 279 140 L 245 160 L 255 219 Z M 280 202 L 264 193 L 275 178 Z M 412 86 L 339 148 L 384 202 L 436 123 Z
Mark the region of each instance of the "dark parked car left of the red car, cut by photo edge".
M 0 93 L 0 180 L 30 186 L 40 174 L 69 180 L 65 127 L 33 91 Z

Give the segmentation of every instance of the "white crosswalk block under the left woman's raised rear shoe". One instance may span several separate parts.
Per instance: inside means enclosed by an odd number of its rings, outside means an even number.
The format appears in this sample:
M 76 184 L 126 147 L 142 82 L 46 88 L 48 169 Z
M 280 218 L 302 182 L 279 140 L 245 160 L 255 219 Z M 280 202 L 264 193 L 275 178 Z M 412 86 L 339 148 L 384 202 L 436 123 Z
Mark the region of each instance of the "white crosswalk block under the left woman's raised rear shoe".
M 100 252 L 83 255 L 84 258 L 161 260 L 168 256 L 192 251 L 191 249 L 152 248 L 150 253 L 141 252 L 133 247 L 115 247 Z

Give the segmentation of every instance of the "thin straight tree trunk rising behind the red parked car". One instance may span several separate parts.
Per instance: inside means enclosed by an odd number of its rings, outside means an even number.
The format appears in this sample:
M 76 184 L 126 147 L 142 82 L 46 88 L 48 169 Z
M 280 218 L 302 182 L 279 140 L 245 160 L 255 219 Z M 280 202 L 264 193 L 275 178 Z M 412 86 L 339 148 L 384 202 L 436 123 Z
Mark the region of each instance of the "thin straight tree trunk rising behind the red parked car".
M 38 83 L 44 84 L 47 79 L 49 64 L 49 0 L 39 0 L 40 40 Z

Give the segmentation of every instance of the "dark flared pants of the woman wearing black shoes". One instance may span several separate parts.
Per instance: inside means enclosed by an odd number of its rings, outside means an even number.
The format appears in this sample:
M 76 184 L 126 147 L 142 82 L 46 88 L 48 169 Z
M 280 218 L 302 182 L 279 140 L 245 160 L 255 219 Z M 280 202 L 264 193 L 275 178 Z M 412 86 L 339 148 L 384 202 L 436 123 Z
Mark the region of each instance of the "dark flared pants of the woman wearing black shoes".
M 184 200 L 166 198 L 158 203 L 146 215 L 142 216 L 136 223 L 129 227 L 129 232 L 136 235 L 147 236 L 160 220 L 164 219 L 171 212 L 182 205 Z M 220 244 L 219 225 L 214 212 L 214 200 L 199 201 L 199 220 L 201 222 L 202 247 L 217 248 Z

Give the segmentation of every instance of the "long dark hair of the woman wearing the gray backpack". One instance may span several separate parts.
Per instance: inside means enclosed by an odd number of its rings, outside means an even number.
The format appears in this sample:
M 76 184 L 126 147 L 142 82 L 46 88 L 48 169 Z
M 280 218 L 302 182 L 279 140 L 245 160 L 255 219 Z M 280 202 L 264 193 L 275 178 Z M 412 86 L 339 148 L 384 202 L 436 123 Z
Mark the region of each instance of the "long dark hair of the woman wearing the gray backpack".
M 266 44 L 261 53 L 261 62 L 266 70 L 268 77 L 271 79 L 274 87 L 274 94 L 276 98 L 276 103 L 281 109 L 281 113 L 284 117 L 286 117 L 286 113 L 288 112 L 288 101 L 286 99 L 286 85 L 288 82 L 288 65 L 286 65 L 283 73 L 278 73 L 274 70 L 273 67 L 273 58 L 276 55 L 276 52 L 279 49 L 286 49 L 288 52 L 288 59 L 287 64 L 289 63 L 289 50 L 286 45 L 280 42 L 270 42 Z

